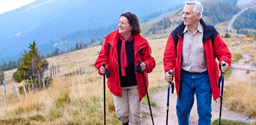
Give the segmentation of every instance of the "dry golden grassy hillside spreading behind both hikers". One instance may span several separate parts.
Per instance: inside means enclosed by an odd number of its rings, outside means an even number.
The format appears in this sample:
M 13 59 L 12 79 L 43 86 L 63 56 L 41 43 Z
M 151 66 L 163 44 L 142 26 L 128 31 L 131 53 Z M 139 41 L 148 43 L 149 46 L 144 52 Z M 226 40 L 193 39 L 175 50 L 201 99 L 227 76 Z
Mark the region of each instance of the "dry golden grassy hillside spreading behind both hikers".
M 167 17 L 171 22 L 179 22 L 181 20 L 181 10 L 175 11 Z M 158 22 L 159 20 L 141 24 L 142 34 L 149 41 L 153 57 L 156 60 L 156 67 L 149 74 L 149 89 L 167 86 L 164 81 L 163 53 L 169 33 L 178 25 L 178 23 L 172 23 L 166 29 L 158 30 L 155 33 L 148 32 Z M 223 32 L 222 35 L 224 35 L 225 32 L 221 30 L 221 25 L 225 24 L 218 25 L 220 33 Z M 232 59 L 239 59 L 241 54 L 250 54 L 254 56 L 252 61 L 256 64 L 254 48 L 256 37 L 233 36 L 235 35 L 232 35 L 232 38 L 224 38 L 232 53 Z M 236 42 L 237 40 L 244 42 L 244 44 L 239 45 Z M 238 45 L 240 48 L 235 48 Z M 94 46 L 48 58 L 49 66 L 52 66 L 52 63 L 58 63 L 62 74 L 68 72 L 69 69 L 70 71 L 76 70 L 80 66 L 90 68 L 91 72 L 81 76 L 57 77 L 50 87 L 35 94 L 29 94 L 27 99 L 22 95 L 21 101 L 14 101 L 13 97 L 11 75 L 15 69 L 4 72 L 7 83 L 7 105 L 4 104 L 4 95 L 0 93 L 2 102 L 0 124 L 103 124 L 103 78 L 93 68 L 100 48 L 101 46 Z M 225 100 L 224 105 L 231 110 L 255 117 L 255 76 L 256 74 L 250 78 L 252 83 L 247 85 L 237 84 L 235 81 L 231 82 L 229 87 L 225 88 L 225 92 L 230 93 L 229 95 L 225 93 L 227 95 L 225 98 L 230 99 Z M 17 85 L 21 86 L 23 84 Z M 0 92 L 3 92 L 2 85 L 0 86 Z M 234 109 L 234 106 L 238 108 Z M 107 109 L 107 123 L 120 124 L 115 118 L 113 100 L 108 89 Z

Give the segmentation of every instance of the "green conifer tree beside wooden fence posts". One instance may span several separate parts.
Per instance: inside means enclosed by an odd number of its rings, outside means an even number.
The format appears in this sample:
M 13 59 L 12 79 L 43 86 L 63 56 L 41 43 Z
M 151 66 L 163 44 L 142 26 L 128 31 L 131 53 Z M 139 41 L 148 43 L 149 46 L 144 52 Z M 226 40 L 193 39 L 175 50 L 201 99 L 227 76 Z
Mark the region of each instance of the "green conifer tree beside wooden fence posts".
M 22 55 L 22 64 L 17 68 L 17 72 L 15 72 L 12 77 L 16 82 L 21 82 L 24 79 L 29 79 L 32 76 L 33 79 L 37 77 L 37 71 L 40 74 L 47 69 L 48 63 L 39 55 L 39 51 L 36 48 L 36 42 L 33 41 L 32 44 L 29 44 L 29 51 L 24 50 L 24 54 Z

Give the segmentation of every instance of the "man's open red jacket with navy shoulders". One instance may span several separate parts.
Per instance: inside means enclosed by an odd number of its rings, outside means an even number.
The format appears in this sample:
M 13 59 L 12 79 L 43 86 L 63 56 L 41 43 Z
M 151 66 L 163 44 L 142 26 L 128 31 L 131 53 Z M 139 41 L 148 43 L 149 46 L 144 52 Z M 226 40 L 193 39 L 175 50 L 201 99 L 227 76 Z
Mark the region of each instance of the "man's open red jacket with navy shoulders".
M 229 48 L 224 43 L 220 34 L 212 25 L 206 25 L 206 23 L 200 19 L 199 21 L 203 28 L 203 46 L 204 54 L 206 56 L 207 72 L 211 82 L 212 96 L 214 100 L 220 97 L 220 88 L 218 87 L 219 69 L 216 63 L 216 58 L 221 61 L 225 61 L 231 64 L 231 54 Z M 176 92 L 179 97 L 179 84 L 181 84 L 181 59 L 183 51 L 183 30 L 186 27 L 183 23 L 171 32 L 166 48 L 164 51 L 164 71 L 167 72 L 170 69 L 174 69 Z

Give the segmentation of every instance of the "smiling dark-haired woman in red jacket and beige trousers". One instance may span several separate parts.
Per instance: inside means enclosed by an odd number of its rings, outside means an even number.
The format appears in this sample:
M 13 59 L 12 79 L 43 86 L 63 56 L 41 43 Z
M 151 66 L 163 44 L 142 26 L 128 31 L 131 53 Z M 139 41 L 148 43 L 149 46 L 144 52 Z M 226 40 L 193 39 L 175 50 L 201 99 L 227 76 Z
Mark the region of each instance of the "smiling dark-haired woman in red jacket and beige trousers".
M 135 67 L 138 61 L 141 70 Z M 106 64 L 103 67 L 102 64 Z M 155 66 L 148 41 L 140 35 L 140 23 L 135 14 L 120 15 L 118 29 L 105 37 L 100 54 L 95 62 L 98 73 L 110 71 L 108 88 L 115 102 L 116 117 L 123 124 L 142 124 L 141 99 L 148 89 L 148 74 Z M 145 88 L 143 75 L 147 88 Z

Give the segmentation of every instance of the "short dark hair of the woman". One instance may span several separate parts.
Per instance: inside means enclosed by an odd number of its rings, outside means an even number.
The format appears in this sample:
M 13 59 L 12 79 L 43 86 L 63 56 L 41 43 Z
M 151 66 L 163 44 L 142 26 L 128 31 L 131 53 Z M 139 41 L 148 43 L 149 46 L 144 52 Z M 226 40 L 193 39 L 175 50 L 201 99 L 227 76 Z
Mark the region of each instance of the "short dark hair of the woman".
M 120 15 L 120 17 L 126 17 L 129 20 L 129 24 L 131 25 L 131 34 L 135 35 L 140 33 L 140 23 L 138 17 L 131 13 L 131 12 L 125 12 Z

